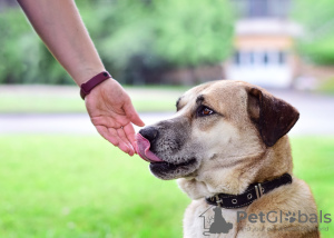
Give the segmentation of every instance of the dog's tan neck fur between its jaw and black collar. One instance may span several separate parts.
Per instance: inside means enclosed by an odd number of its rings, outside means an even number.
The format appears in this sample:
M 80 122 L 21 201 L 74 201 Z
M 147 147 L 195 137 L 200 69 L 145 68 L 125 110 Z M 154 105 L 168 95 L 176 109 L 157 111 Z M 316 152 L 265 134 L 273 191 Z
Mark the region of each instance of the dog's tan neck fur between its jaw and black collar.
M 200 172 L 196 177 L 178 179 L 178 185 L 191 199 L 217 194 L 238 195 L 254 182 L 263 182 L 292 173 L 292 156 L 287 136 L 259 155 L 244 158 L 243 163 Z

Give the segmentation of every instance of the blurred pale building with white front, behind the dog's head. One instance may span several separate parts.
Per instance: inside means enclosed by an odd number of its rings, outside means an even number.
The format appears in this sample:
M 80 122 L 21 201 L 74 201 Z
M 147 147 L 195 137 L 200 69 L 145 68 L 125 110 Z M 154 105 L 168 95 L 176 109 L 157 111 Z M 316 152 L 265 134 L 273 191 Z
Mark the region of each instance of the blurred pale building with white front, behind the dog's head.
M 234 57 L 225 63 L 227 79 L 264 87 L 287 88 L 297 75 L 294 39 L 301 27 L 289 20 L 291 0 L 234 1 Z

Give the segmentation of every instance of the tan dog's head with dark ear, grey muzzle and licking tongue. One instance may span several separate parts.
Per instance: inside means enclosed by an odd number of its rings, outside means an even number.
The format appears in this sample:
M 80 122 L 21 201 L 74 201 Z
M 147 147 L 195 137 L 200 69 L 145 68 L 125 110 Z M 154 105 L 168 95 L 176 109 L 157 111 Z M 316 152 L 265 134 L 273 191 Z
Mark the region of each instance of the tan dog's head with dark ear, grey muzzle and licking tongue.
M 298 119 L 291 105 L 242 81 L 200 85 L 181 96 L 176 107 L 173 118 L 137 135 L 139 156 L 160 179 L 202 181 L 215 172 L 245 172 Z

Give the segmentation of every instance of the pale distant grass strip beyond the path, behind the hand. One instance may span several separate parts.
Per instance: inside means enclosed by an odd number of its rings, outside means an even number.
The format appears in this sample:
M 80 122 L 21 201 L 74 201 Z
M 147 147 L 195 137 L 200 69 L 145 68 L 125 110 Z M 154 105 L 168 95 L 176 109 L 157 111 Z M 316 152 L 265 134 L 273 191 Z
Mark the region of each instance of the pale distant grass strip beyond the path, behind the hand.
M 3 89 L 2 89 L 3 88 Z M 86 112 L 78 87 L 0 86 L 0 113 Z M 63 88 L 63 89 L 62 89 Z M 188 87 L 127 87 L 137 111 L 174 111 L 175 102 Z

